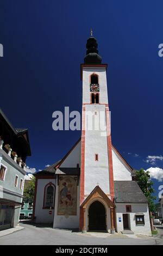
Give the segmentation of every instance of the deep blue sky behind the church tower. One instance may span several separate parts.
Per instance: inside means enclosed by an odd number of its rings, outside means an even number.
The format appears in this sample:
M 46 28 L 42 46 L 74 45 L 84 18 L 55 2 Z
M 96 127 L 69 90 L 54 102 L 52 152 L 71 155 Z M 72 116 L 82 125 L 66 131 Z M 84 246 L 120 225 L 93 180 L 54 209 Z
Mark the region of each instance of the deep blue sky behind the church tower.
M 65 106 L 81 112 L 80 63 L 92 27 L 99 54 L 108 63 L 112 144 L 133 168 L 154 168 L 158 194 L 162 8 L 159 0 L 1 0 L 1 108 L 15 127 L 29 129 L 30 168 L 61 159 L 80 137 L 80 131 L 53 131 L 52 113 Z

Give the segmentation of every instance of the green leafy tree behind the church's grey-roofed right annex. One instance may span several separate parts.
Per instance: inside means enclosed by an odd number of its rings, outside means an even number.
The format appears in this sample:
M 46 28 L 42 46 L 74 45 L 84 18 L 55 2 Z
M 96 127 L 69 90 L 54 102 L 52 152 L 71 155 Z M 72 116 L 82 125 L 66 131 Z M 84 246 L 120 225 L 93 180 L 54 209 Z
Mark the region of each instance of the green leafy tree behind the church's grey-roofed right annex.
M 150 179 L 149 172 L 145 172 L 143 168 L 140 170 L 136 170 L 136 181 L 137 184 L 140 186 L 142 192 L 145 194 L 145 196 L 148 199 L 148 206 L 149 206 L 149 211 L 154 212 L 155 211 L 155 204 L 154 200 L 156 199 L 155 196 L 152 194 L 154 193 L 154 188 L 153 188 L 153 182 Z

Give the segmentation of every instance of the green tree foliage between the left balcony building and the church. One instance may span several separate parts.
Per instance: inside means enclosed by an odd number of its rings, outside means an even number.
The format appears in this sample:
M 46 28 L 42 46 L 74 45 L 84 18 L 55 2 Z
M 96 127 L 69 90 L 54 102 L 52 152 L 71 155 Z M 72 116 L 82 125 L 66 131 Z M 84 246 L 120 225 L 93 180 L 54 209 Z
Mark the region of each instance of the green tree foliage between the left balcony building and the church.
M 23 201 L 24 202 L 33 202 L 35 192 L 35 177 L 33 177 L 26 187 L 24 187 Z

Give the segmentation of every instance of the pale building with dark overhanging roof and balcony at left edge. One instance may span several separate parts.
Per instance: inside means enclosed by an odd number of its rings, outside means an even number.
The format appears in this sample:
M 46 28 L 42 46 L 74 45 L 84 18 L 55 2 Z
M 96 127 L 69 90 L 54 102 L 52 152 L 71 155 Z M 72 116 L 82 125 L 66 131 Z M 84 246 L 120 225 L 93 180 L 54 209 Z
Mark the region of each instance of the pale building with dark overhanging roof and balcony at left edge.
M 26 157 L 30 155 L 27 129 L 15 129 L 0 111 L 0 230 L 15 227 L 23 198 Z

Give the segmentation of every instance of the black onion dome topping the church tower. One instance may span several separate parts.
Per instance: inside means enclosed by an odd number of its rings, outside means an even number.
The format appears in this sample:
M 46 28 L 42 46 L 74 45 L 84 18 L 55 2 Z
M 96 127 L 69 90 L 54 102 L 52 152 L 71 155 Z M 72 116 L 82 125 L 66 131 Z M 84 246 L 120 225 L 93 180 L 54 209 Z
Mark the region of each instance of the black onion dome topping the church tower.
M 96 38 L 93 38 L 92 36 L 87 39 L 86 43 L 86 56 L 84 58 L 85 64 L 101 64 L 102 57 L 98 55 L 97 50 L 98 44 Z

